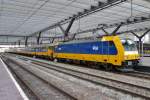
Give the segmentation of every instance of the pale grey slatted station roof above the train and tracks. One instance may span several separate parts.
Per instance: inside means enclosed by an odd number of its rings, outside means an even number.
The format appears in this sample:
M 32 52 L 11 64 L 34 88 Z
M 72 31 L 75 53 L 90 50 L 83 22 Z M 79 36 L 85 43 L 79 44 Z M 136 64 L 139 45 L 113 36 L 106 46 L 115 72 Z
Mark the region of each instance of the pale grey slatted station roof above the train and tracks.
M 0 0 L 0 43 L 13 43 L 39 32 L 44 37 L 63 36 L 59 25 L 66 29 L 73 17 L 70 34 L 92 33 L 99 27 L 112 32 L 122 22 L 118 32 L 144 31 L 150 28 L 150 1 Z

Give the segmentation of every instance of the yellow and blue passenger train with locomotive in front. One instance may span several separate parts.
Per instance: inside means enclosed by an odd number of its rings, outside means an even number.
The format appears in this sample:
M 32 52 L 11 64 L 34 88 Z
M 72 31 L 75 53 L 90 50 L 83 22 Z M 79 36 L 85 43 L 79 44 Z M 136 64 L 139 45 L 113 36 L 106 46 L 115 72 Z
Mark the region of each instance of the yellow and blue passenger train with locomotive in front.
M 136 66 L 139 54 L 134 41 L 118 36 L 103 36 L 96 40 L 73 40 L 59 44 L 30 47 L 31 56 L 46 56 L 54 61 L 73 61 L 102 65 L 106 70 Z

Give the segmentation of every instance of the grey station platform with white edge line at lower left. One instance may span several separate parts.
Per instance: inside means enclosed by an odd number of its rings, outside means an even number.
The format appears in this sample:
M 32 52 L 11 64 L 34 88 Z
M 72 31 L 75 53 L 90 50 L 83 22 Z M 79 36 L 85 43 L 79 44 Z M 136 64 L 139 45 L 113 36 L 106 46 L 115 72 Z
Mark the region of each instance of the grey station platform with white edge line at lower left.
M 28 100 L 11 72 L 0 59 L 0 100 Z

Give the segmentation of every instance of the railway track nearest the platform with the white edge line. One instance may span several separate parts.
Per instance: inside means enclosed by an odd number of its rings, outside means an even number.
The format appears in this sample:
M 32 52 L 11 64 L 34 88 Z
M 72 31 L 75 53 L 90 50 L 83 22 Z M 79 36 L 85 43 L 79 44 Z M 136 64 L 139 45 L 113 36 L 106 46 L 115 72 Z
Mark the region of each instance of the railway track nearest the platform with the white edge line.
M 25 86 L 32 91 L 34 99 L 31 100 L 76 100 L 47 81 L 21 67 L 18 62 L 3 57 L 3 61 Z

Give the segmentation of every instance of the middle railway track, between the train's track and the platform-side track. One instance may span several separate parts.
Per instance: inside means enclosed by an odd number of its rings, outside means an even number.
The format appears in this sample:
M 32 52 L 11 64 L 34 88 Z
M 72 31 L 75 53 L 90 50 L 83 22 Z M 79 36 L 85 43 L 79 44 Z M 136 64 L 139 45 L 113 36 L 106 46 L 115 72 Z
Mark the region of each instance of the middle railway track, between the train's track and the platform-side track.
M 66 68 L 54 64 L 47 64 L 39 61 L 35 61 L 32 59 L 27 58 L 21 58 L 25 61 L 30 61 L 33 64 L 36 64 L 38 66 L 41 66 L 40 69 L 48 71 L 48 70 L 54 70 L 60 73 L 64 73 L 82 80 L 86 80 L 88 82 L 97 84 L 97 85 L 103 85 L 109 88 L 116 89 L 121 92 L 129 93 L 134 96 L 142 97 L 145 99 L 150 99 L 150 87 L 149 86 L 143 86 L 143 85 L 137 85 L 132 84 L 128 82 L 118 81 L 115 79 L 105 78 L 93 73 L 87 73 L 86 71 L 79 71 L 71 68 Z

